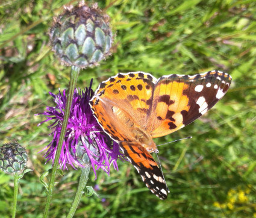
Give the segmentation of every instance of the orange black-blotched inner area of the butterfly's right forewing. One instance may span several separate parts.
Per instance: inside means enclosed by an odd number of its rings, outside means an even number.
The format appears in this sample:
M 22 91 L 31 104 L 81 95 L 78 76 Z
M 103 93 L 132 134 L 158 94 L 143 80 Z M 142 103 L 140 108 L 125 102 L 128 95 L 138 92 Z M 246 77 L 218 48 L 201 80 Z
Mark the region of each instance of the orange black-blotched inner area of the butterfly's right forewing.
M 153 138 L 170 134 L 182 128 L 183 112 L 189 111 L 189 98 L 184 94 L 189 85 L 183 81 L 163 77 L 158 80 L 153 97 L 151 116 L 154 117 L 148 131 Z

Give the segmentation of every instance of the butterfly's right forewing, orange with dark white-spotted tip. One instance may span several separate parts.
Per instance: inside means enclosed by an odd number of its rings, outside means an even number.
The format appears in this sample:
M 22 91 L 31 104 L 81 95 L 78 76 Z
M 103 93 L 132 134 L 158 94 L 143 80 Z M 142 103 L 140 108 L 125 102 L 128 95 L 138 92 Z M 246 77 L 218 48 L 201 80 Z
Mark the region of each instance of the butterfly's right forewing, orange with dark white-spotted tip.
M 183 128 L 213 107 L 227 92 L 231 76 L 219 71 L 162 76 L 156 86 L 147 131 L 153 138 Z M 166 87 L 166 89 L 164 89 Z

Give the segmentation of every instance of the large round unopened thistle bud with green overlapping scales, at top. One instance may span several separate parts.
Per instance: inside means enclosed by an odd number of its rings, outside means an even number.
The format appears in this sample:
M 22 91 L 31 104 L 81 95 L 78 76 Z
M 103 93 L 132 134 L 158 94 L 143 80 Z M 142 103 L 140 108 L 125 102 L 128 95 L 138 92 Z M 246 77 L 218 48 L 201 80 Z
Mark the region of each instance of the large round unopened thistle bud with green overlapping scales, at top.
M 54 18 L 50 30 L 52 48 L 68 66 L 92 67 L 110 55 L 112 32 L 109 17 L 97 4 L 84 2 L 76 7 L 64 7 L 62 15 Z

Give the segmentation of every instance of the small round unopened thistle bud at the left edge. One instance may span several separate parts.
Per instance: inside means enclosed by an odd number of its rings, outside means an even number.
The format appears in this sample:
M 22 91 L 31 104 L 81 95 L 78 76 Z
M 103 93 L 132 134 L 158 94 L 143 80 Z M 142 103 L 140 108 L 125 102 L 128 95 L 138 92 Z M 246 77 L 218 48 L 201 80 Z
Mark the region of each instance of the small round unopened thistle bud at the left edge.
M 28 155 L 17 142 L 10 142 L 0 147 L 0 169 L 5 173 L 17 173 L 27 164 Z

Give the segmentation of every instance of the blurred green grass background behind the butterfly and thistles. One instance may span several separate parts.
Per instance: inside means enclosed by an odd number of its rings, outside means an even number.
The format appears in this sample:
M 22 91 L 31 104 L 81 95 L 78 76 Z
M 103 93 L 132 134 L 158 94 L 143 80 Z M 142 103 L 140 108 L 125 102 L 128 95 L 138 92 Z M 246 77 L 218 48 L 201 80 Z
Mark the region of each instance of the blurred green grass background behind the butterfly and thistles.
M 63 4 L 77 1 L 0 2 L 0 143 L 25 146 L 33 172 L 20 179 L 17 217 L 42 217 L 46 193 L 40 175 L 51 167 L 38 152 L 51 140 L 45 117 L 54 105 L 48 92 L 69 83 L 69 67 L 51 52 L 48 28 Z M 130 163 L 110 176 L 90 172 L 88 185 L 101 198 L 82 198 L 75 217 L 256 217 L 256 3 L 254 0 L 98 1 L 112 20 L 113 55 L 83 70 L 77 87 L 98 83 L 117 72 L 144 71 L 156 78 L 216 69 L 231 74 L 225 97 L 207 114 L 171 135 L 155 140 L 190 140 L 160 147 L 170 188 L 166 201 L 145 187 Z M 50 217 L 65 217 L 79 170 L 58 176 Z M 0 172 L 0 214 L 9 217 L 13 176 Z

